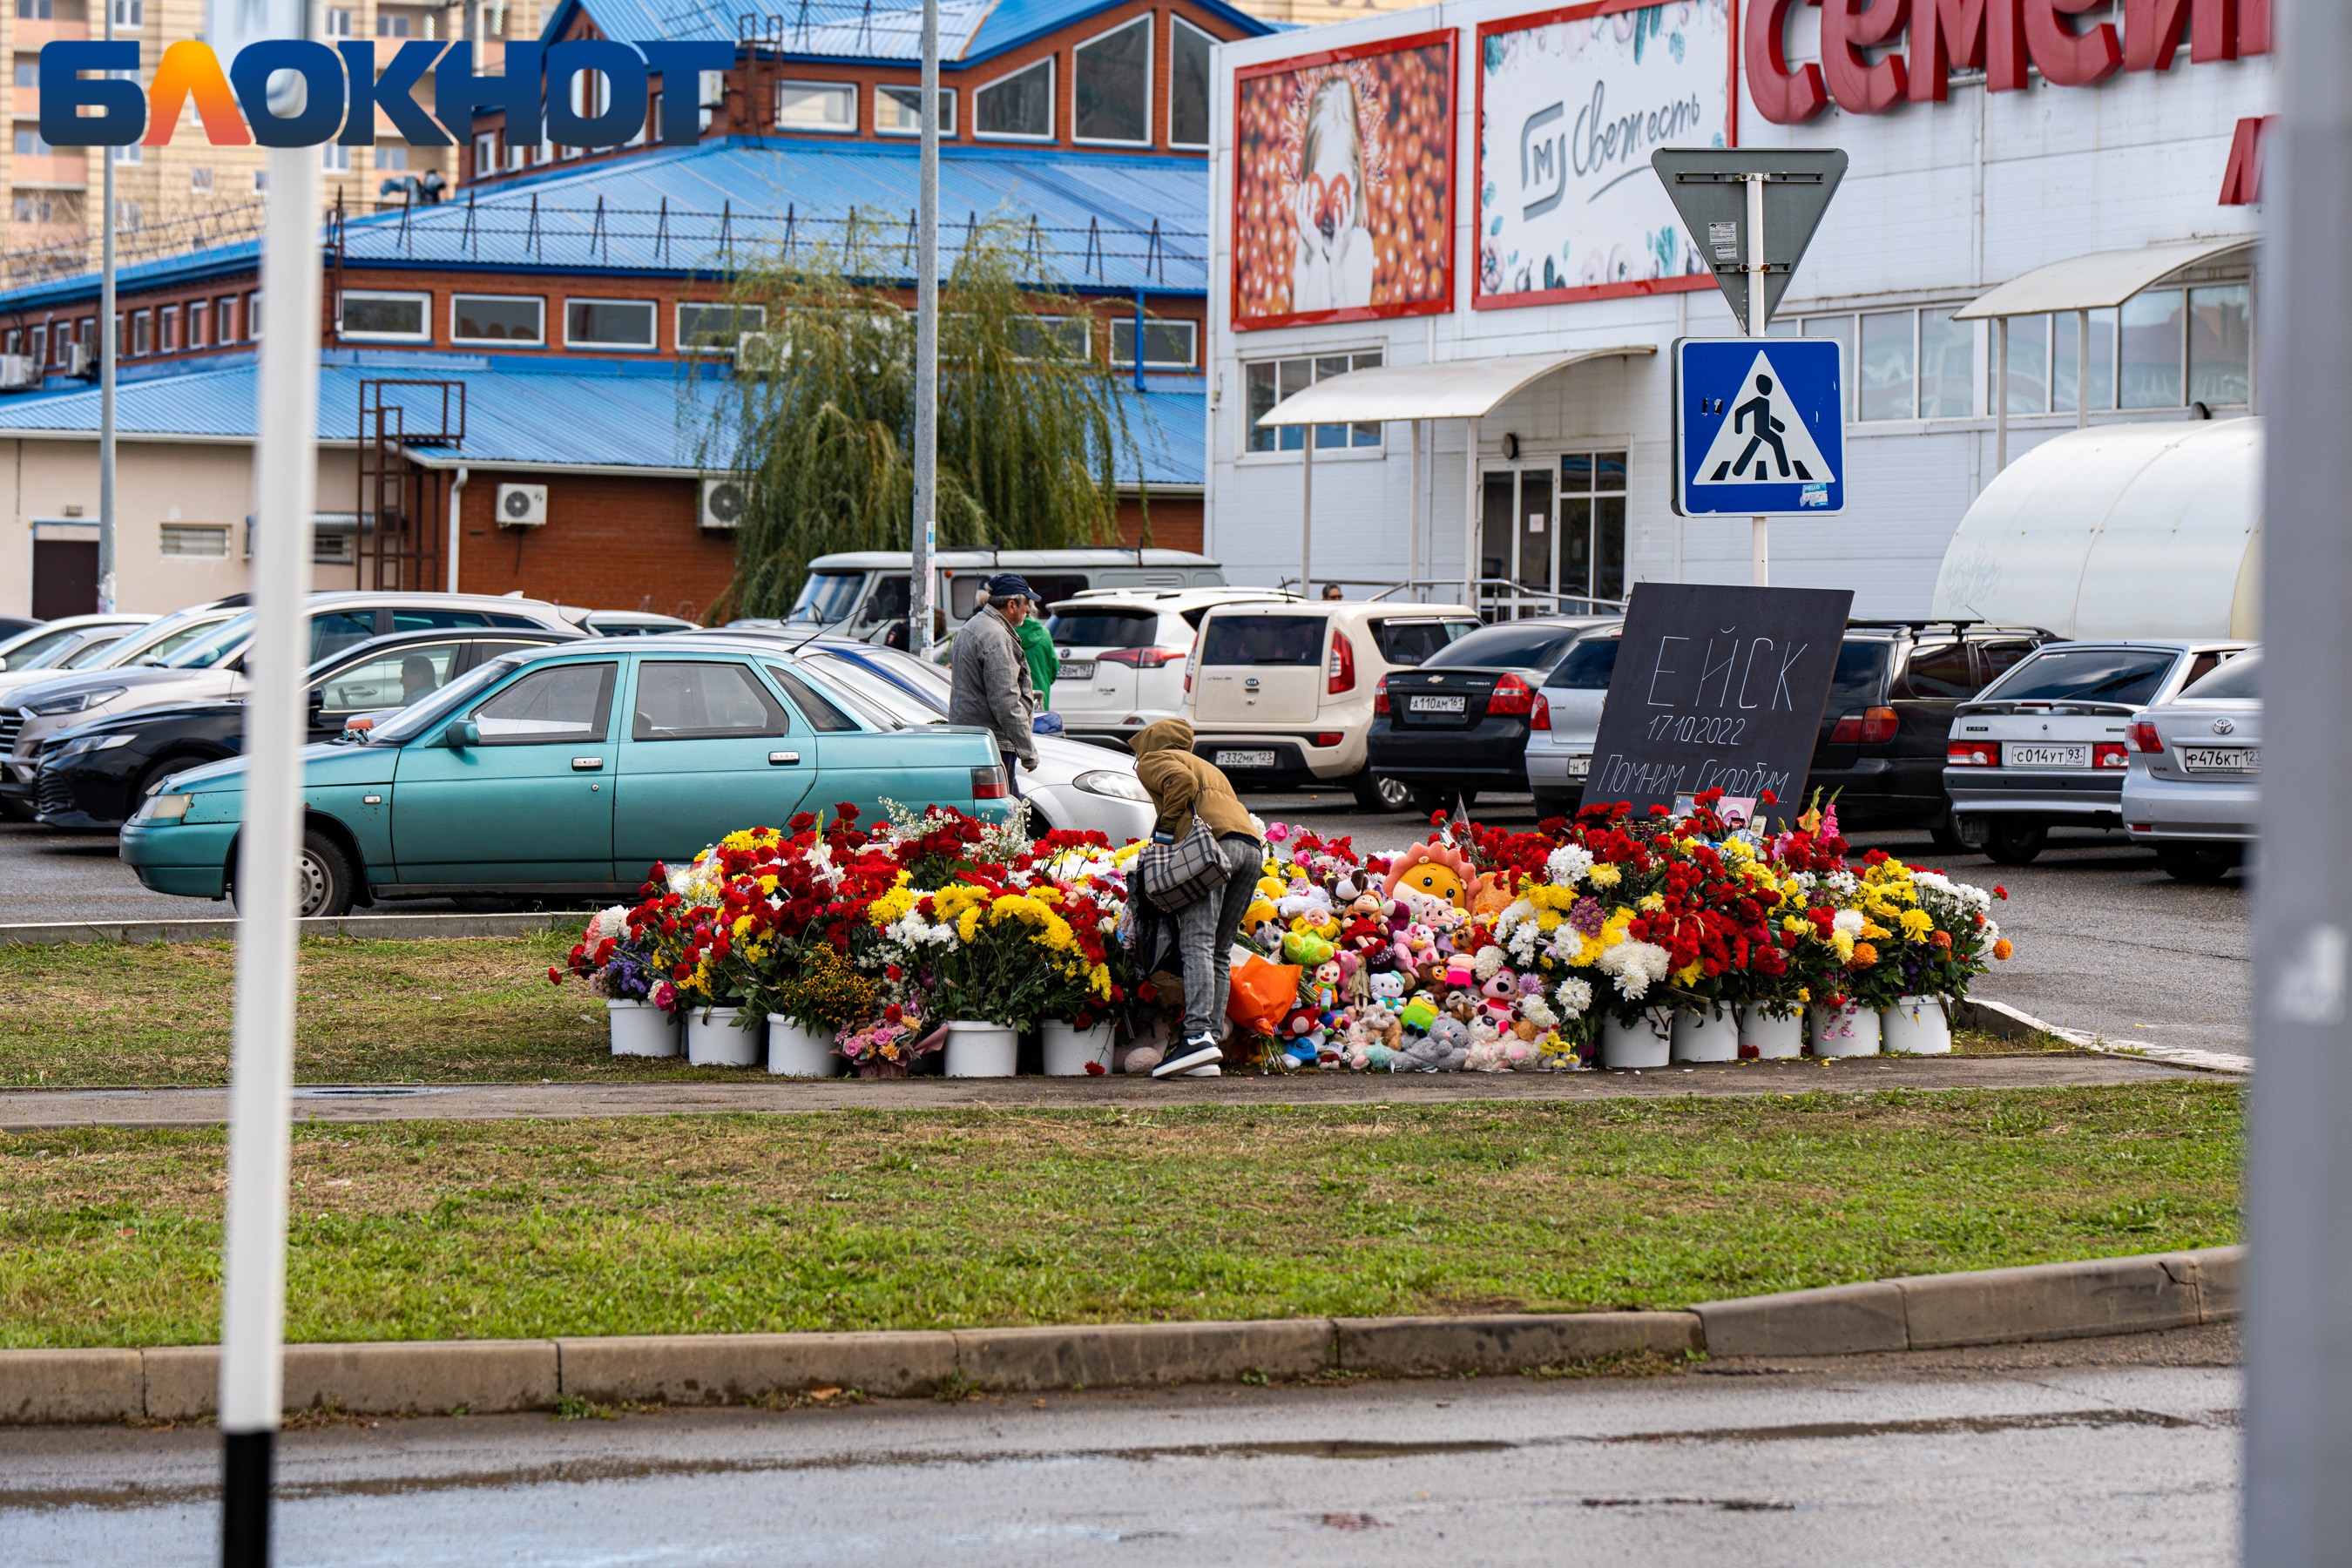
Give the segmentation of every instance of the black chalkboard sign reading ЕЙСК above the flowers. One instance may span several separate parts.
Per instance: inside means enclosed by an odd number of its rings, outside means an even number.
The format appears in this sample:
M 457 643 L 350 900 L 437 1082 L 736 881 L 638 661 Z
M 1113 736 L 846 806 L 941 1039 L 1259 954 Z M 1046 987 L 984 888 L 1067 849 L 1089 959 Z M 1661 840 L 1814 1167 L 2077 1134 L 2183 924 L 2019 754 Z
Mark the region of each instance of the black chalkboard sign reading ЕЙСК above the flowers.
M 1795 818 L 1849 609 L 1844 588 L 1637 583 L 1583 804 L 1771 790 Z

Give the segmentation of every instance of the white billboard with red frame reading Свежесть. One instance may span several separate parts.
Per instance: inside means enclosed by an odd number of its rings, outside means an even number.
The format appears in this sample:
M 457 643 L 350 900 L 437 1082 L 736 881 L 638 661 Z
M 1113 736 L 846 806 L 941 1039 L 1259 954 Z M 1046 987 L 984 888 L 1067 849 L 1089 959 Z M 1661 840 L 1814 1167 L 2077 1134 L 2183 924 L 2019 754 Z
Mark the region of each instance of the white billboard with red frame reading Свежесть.
M 1477 31 L 1472 306 L 1710 289 L 1649 155 L 1738 146 L 1729 0 L 1602 0 Z

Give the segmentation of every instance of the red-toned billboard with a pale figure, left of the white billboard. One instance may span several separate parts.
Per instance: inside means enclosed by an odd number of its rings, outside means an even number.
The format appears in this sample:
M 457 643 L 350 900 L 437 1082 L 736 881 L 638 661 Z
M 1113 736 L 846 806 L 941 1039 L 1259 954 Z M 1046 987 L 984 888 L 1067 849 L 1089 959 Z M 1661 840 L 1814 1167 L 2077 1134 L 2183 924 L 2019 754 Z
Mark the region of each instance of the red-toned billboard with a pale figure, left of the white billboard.
M 1232 80 L 1232 324 L 1454 308 L 1454 33 Z

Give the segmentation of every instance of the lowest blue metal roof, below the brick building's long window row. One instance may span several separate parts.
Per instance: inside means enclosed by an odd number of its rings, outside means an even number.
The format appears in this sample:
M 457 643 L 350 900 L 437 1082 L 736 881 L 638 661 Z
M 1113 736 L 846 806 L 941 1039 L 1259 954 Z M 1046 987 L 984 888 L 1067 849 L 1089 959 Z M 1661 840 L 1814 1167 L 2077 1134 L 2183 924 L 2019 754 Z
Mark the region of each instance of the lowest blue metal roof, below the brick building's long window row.
M 329 350 L 318 386 L 322 440 L 358 435 L 360 381 L 419 378 L 466 383 L 466 440 L 419 456 L 485 468 L 644 468 L 717 470 L 724 454 L 706 451 L 729 386 L 715 367 L 677 362 L 513 360 L 482 355 L 395 355 Z M 129 376 L 115 388 L 115 428 L 125 440 L 252 440 L 259 367 L 249 355 L 188 369 Z M 1136 463 L 1122 482 L 1202 484 L 1207 480 L 1207 400 L 1192 376 L 1122 383 Z M 435 428 L 442 395 L 388 390 L 409 428 Z M 99 390 L 73 388 L 0 400 L 0 437 L 19 433 L 96 435 Z

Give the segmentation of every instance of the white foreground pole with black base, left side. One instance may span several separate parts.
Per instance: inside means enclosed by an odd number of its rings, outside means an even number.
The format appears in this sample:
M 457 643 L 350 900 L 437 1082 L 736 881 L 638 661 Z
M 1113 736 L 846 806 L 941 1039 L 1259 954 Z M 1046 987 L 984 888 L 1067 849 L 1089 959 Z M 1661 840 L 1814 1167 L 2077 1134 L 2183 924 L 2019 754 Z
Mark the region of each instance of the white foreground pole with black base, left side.
M 238 830 L 238 1025 L 228 1077 L 228 1258 L 221 1288 L 221 1556 L 266 1563 L 282 1408 L 287 1121 L 294 1091 L 294 865 L 301 853 L 301 672 L 318 503 L 320 190 L 310 148 L 270 148 L 261 252 L 254 463 L 254 651 Z

